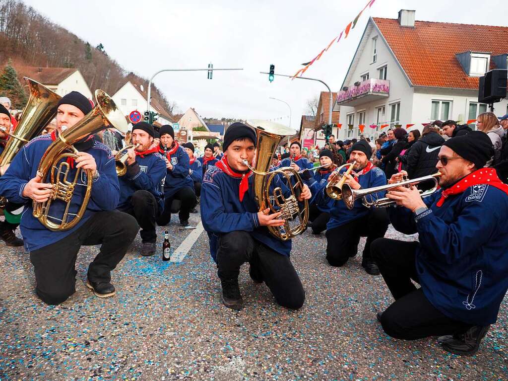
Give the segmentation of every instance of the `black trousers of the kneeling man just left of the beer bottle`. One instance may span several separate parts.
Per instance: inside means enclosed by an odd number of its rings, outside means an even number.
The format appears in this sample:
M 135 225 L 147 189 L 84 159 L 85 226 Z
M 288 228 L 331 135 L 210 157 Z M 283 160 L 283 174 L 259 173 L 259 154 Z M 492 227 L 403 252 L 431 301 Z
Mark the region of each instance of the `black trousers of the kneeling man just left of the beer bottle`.
M 141 227 L 140 236 L 144 242 L 157 242 L 155 233 L 155 219 L 160 211 L 155 196 L 146 190 L 137 190 L 131 196 L 131 204 L 118 208 L 120 212 L 130 214 L 136 218 Z

